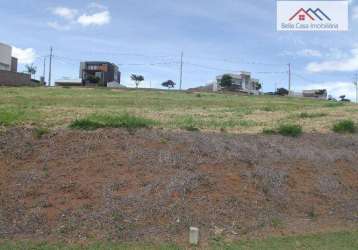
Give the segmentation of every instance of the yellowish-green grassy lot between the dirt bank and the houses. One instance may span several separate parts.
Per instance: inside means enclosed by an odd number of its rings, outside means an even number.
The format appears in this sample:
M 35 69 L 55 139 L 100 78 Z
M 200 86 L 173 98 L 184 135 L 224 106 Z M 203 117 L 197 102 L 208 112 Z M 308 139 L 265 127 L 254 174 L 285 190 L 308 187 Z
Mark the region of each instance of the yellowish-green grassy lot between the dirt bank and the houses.
M 129 113 L 156 128 L 261 133 L 281 123 L 328 132 L 335 121 L 358 121 L 354 104 L 302 98 L 79 88 L 0 88 L 0 126 L 66 127 L 89 115 Z

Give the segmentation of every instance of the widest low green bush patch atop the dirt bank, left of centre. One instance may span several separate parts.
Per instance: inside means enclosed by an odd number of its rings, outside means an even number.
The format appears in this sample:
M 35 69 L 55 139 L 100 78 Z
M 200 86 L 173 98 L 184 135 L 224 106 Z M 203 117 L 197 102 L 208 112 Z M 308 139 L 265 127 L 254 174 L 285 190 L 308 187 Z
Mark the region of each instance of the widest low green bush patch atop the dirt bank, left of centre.
M 96 130 L 98 128 L 146 128 L 154 124 L 154 121 L 129 114 L 118 116 L 92 115 L 87 118 L 77 119 L 70 124 L 72 129 Z

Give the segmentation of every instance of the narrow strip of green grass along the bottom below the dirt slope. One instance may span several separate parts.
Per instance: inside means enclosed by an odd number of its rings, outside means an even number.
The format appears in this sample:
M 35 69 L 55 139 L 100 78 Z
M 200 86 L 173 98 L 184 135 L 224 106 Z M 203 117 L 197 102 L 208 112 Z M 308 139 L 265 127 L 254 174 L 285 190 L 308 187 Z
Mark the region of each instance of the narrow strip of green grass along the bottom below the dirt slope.
M 192 247 L 189 249 L 213 249 L 213 250 L 355 250 L 358 248 L 358 231 L 337 232 L 326 234 L 315 234 L 308 236 L 295 237 L 273 237 L 266 240 L 251 240 L 234 243 L 225 243 L 222 240 L 212 240 L 209 245 L 202 247 Z M 30 243 L 30 242 L 4 242 L 0 243 L 0 250 L 181 250 L 188 249 L 171 244 L 152 245 L 152 244 L 116 244 L 116 243 L 94 243 L 86 246 L 50 244 L 50 243 Z

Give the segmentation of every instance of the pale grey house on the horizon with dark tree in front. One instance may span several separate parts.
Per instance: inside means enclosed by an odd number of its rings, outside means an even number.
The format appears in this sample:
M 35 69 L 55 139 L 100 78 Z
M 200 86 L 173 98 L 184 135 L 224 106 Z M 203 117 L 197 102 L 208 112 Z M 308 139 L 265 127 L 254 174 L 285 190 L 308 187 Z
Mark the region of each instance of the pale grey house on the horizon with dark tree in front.
M 229 75 L 232 78 L 232 86 L 228 89 L 230 91 L 238 91 L 251 95 L 259 95 L 259 86 L 260 81 L 258 79 L 251 78 L 251 73 L 246 71 L 241 71 L 240 74 L 224 74 Z M 216 77 L 216 82 L 213 84 L 213 91 L 222 90 L 220 86 L 221 79 L 224 75 Z

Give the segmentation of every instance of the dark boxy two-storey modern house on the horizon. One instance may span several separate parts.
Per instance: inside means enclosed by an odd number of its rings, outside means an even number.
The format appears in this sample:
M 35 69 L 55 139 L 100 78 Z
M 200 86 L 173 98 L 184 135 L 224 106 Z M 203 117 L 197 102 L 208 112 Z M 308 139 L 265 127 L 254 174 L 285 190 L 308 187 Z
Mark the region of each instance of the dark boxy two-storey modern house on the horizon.
M 83 85 L 106 86 L 109 82 L 121 82 L 121 72 L 117 65 L 110 62 L 81 62 L 80 78 Z

